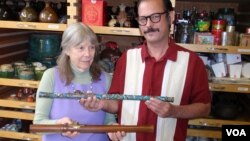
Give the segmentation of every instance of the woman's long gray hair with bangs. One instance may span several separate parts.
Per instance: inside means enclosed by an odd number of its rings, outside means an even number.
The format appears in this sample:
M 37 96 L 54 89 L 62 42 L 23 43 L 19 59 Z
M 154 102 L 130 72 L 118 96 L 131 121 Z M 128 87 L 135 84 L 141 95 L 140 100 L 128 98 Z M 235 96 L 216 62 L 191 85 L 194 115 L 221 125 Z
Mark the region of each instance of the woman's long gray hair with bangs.
M 57 59 L 57 66 L 61 79 L 66 82 L 66 85 L 70 84 L 74 79 L 74 74 L 70 66 L 70 58 L 66 55 L 66 51 L 70 47 L 77 46 L 82 42 L 90 42 L 92 45 L 96 46 L 96 55 L 92 65 L 90 66 L 90 73 L 93 80 L 99 79 L 100 70 L 97 64 L 98 40 L 96 34 L 87 25 L 77 22 L 69 25 L 63 32 L 61 41 L 62 52 Z

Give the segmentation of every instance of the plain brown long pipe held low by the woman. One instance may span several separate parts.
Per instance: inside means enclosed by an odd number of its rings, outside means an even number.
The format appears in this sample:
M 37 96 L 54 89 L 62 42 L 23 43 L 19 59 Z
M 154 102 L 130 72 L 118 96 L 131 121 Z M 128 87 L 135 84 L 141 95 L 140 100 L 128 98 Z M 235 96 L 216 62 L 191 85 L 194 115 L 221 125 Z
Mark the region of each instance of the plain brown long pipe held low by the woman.
M 79 125 L 79 124 L 31 124 L 30 132 L 33 133 L 62 133 L 77 131 L 80 133 L 104 133 L 104 132 L 150 132 L 154 131 L 153 125 Z

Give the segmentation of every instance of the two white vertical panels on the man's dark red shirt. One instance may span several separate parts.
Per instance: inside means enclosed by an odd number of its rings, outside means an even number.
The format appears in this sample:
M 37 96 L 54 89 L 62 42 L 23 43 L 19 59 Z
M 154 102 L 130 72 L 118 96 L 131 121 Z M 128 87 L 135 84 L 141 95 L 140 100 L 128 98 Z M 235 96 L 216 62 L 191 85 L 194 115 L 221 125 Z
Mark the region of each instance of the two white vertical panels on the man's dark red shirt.
M 189 53 L 178 51 L 175 62 L 168 60 L 164 68 L 161 96 L 174 97 L 174 105 L 179 105 L 186 80 Z M 145 62 L 142 62 L 141 48 L 127 52 L 125 74 L 125 94 L 141 95 Z M 125 100 L 122 104 L 121 124 L 137 125 L 140 101 Z M 173 141 L 176 118 L 157 119 L 156 141 Z M 122 141 L 136 141 L 136 133 L 127 133 Z

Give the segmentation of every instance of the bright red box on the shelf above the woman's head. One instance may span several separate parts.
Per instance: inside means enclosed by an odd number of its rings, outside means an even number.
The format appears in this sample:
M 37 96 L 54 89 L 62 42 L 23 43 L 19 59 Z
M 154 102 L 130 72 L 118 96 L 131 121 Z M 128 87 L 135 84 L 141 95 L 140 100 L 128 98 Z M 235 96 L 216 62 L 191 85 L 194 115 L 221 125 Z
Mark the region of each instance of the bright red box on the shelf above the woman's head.
M 82 0 L 82 22 L 87 25 L 104 26 L 105 7 L 104 0 Z

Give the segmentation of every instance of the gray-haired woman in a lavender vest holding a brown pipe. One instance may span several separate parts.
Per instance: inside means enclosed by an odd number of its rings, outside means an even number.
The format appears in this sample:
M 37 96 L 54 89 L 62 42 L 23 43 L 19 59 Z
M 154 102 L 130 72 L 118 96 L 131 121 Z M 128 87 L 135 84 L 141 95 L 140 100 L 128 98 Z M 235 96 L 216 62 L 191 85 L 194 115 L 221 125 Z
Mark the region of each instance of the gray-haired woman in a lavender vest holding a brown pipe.
M 62 35 L 62 52 L 57 66 L 44 72 L 37 90 L 34 124 L 104 124 L 114 116 L 104 111 L 90 112 L 72 99 L 39 98 L 39 92 L 106 93 L 111 77 L 97 65 L 98 41 L 95 33 L 82 23 L 71 24 Z M 43 141 L 108 141 L 106 134 L 64 132 L 47 133 Z

